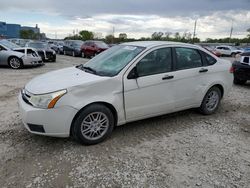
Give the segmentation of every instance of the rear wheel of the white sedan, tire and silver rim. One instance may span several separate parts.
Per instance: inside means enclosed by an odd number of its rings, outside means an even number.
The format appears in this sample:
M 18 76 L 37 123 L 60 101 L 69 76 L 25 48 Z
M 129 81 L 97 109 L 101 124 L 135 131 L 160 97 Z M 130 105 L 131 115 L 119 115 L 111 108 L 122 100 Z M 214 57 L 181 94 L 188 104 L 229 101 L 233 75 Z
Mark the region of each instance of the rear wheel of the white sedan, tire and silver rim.
M 219 107 L 221 95 L 221 91 L 218 87 L 210 88 L 202 100 L 199 108 L 200 112 L 204 115 L 215 113 Z

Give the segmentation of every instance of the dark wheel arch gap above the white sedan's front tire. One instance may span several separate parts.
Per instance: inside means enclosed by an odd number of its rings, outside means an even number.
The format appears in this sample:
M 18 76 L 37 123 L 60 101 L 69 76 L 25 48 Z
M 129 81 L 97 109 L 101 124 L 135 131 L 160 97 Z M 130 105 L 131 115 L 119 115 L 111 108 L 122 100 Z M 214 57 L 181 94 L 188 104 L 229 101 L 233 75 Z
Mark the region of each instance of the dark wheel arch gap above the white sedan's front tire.
M 114 119 L 115 119 L 115 126 L 117 125 L 117 121 L 118 121 L 118 115 L 117 115 L 117 110 L 115 109 L 115 107 L 110 104 L 110 103 L 107 103 L 107 102 L 104 102 L 104 101 L 97 101 L 97 102 L 92 102 L 92 103 L 89 103 L 87 104 L 86 106 L 82 107 L 74 116 L 72 122 L 71 122 L 71 125 L 70 125 L 70 136 L 72 135 L 72 128 L 73 128 L 73 124 L 76 120 L 76 118 L 78 117 L 78 115 L 84 110 L 86 109 L 87 107 L 93 105 L 93 104 L 101 104 L 101 105 L 104 105 L 106 106 L 107 108 L 109 108 L 114 116 Z

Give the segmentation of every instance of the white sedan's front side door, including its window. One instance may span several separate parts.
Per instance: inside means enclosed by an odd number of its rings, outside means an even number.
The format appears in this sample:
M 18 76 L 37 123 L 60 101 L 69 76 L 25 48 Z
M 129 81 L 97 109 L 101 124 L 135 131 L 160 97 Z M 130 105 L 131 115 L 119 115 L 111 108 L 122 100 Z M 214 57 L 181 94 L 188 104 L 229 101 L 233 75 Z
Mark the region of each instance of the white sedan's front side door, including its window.
M 137 78 L 130 78 L 135 73 Z M 126 120 L 164 114 L 174 110 L 172 49 L 151 50 L 124 75 Z

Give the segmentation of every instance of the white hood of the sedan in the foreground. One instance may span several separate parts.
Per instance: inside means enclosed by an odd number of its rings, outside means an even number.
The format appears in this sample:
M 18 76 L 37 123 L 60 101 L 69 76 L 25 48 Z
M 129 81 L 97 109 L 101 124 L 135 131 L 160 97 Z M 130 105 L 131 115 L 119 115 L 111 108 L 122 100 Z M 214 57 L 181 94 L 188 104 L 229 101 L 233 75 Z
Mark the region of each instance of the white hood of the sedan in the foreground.
M 78 85 L 90 85 L 109 77 L 97 76 L 76 67 L 64 68 L 35 77 L 25 86 L 32 94 L 50 93 Z

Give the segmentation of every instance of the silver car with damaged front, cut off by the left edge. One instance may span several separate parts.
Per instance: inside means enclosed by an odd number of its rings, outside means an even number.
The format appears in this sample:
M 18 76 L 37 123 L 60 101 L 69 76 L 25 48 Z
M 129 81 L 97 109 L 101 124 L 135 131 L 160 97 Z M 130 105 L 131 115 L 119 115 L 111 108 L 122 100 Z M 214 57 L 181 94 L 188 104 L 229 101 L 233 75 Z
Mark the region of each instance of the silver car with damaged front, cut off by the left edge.
M 26 65 L 42 65 L 43 61 L 33 48 L 23 48 L 7 40 L 0 40 L 0 65 L 19 69 Z

